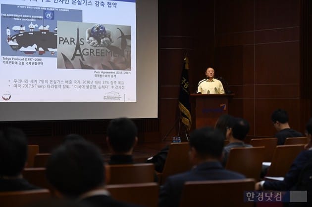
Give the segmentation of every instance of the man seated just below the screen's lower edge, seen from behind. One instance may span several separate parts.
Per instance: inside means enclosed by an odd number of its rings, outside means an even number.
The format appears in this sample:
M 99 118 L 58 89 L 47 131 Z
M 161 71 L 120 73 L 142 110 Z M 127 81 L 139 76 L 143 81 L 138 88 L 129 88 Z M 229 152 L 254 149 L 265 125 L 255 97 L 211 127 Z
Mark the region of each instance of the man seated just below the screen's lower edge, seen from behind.
M 106 142 L 111 151 L 109 165 L 133 164 L 132 152 L 138 142 L 138 128 L 127 118 L 113 119 L 107 126 Z

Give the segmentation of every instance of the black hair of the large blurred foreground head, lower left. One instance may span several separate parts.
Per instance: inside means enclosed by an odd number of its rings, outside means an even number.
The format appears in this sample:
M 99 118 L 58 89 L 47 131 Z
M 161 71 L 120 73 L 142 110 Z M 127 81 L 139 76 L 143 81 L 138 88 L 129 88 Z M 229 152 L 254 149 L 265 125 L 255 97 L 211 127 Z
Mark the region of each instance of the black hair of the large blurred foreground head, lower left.
M 68 142 L 52 152 L 46 173 L 61 194 L 77 198 L 104 184 L 103 156 L 90 142 Z

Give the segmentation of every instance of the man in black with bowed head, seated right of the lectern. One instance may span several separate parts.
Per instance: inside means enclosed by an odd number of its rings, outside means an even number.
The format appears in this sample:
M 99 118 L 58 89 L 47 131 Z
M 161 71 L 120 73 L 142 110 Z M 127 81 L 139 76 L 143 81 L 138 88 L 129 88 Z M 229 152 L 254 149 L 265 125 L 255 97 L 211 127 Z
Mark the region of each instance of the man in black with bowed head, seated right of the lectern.
M 288 115 L 285 110 L 277 109 L 271 115 L 273 126 L 278 131 L 274 137 L 277 137 L 277 145 L 283 145 L 287 137 L 302 137 L 302 133 L 290 128 L 288 124 Z

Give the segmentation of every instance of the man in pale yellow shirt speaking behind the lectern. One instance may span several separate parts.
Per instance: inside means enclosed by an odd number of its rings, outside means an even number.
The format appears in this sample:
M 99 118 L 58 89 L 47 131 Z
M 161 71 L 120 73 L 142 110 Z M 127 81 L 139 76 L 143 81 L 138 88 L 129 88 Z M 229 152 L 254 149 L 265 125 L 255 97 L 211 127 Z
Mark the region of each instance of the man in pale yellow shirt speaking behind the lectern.
M 203 94 L 224 94 L 222 83 L 214 79 L 213 68 L 207 68 L 205 74 L 207 78 L 198 83 L 197 92 Z

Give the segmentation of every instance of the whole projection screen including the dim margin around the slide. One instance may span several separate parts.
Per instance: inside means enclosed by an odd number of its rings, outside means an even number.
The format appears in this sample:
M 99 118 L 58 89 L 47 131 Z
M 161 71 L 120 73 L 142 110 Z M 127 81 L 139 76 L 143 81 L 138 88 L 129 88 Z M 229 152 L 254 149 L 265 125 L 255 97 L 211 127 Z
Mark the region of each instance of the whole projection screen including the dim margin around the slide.
M 158 117 L 157 0 L 0 0 L 0 122 Z

